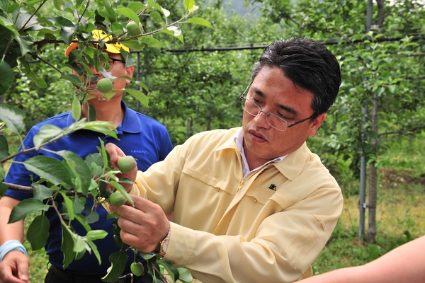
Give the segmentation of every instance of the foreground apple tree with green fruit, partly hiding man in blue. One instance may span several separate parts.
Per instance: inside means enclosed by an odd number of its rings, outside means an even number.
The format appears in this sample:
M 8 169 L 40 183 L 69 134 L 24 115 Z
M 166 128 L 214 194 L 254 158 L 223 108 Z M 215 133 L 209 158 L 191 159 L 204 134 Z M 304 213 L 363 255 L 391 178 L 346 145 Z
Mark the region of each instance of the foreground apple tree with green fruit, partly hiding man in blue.
M 72 117 L 77 122 L 67 128 L 59 129 L 53 126 L 45 126 L 40 129 L 34 138 L 35 147 L 22 149 L 17 154 L 10 154 L 6 137 L 0 135 L 0 180 L 3 181 L 6 171 L 3 164 L 6 161 L 27 151 L 42 149 L 46 144 L 50 144 L 72 132 L 88 129 L 96 132 L 117 137 L 115 128 L 111 122 L 95 121 L 92 117 L 94 112 L 89 113 L 89 119 L 80 119 L 81 104 L 86 103 L 92 95 L 88 87 L 90 81 L 95 81 L 91 68 L 101 71 L 106 78 L 104 83 L 98 84 L 99 91 L 102 91 L 106 98 L 113 96 L 114 91 L 108 86 L 113 77 L 106 69 L 108 64 L 107 54 L 101 51 L 106 43 L 119 42 L 131 50 L 140 51 L 144 47 L 162 47 L 163 44 L 154 35 L 164 33 L 175 37 L 183 42 L 181 24 L 192 23 L 211 27 L 210 23 L 203 18 L 193 17 L 193 13 L 198 10 L 198 6 L 193 0 L 181 1 L 180 16 L 173 19 L 171 13 L 166 8 L 160 6 L 154 0 L 146 3 L 139 1 L 125 2 L 123 5 L 113 5 L 108 0 L 98 1 L 53 1 L 53 7 L 45 8 L 50 1 L 13 1 L 0 0 L 0 95 L 13 85 L 14 81 L 26 79 L 25 83 L 15 85 L 17 91 L 26 92 L 25 84 L 30 79 L 38 88 L 47 88 L 50 78 L 47 80 L 35 71 L 32 63 L 34 60 L 42 62 L 50 67 L 52 74 L 57 74 L 57 79 L 69 81 L 77 89 L 77 95 L 72 98 Z M 53 11 L 53 13 L 45 13 Z M 52 16 L 56 15 L 56 16 Z M 97 30 L 96 33 L 94 30 Z M 98 35 L 94 37 L 94 35 Z M 78 47 L 69 54 L 69 59 L 65 66 L 57 67 L 50 62 L 49 56 L 53 47 L 64 47 L 74 45 Z M 98 48 L 101 47 L 101 48 Z M 120 50 L 128 64 L 134 60 L 132 54 Z M 79 64 L 77 64 L 79 62 Z M 64 67 L 72 69 L 83 75 L 84 79 L 78 76 L 67 74 Z M 45 73 L 41 73 L 45 74 Z M 130 79 L 129 77 L 125 77 Z M 130 79 L 147 91 L 147 86 L 142 81 Z M 20 88 L 21 87 L 21 88 Z M 28 88 L 29 89 L 29 88 Z M 142 91 L 128 88 L 125 90 L 131 96 L 137 98 L 142 103 L 147 104 L 147 97 Z M 30 93 L 30 96 L 35 93 Z M 28 97 L 30 97 L 28 96 Z M 25 104 L 21 104 L 25 108 Z M 91 110 L 93 111 L 93 110 Z M 11 105 L 0 104 L 0 132 L 12 132 L 22 139 L 24 131 L 24 112 Z M 96 239 L 106 236 L 106 231 L 94 231 L 89 226 L 96 219 L 96 207 L 85 207 L 85 197 L 94 198 L 96 205 L 103 205 L 108 202 L 121 204 L 128 201 L 132 204 L 132 198 L 124 190 L 120 183 L 129 183 L 130 180 L 118 179 L 115 175 L 120 171 L 128 171 L 134 165 L 134 161 L 127 161 L 119 165 L 119 169 L 113 169 L 109 161 L 109 156 L 101 142 L 98 154 L 91 154 L 84 160 L 71 151 L 59 151 L 56 154 L 63 158 L 59 161 L 48 156 L 35 156 L 24 161 L 26 168 L 40 176 L 40 181 L 33 183 L 31 187 L 20 187 L 14 184 L 0 183 L 1 195 L 9 188 L 24 192 L 33 192 L 33 197 L 23 200 L 13 208 L 9 223 L 20 221 L 34 212 L 40 212 L 28 228 L 27 239 L 33 249 L 42 248 L 48 238 L 49 223 L 43 212 L 51 207 L 55 209 L 56 197 L 63 197 L 64 211 L 57 214 L 62 223 L 62 251 L 64 253 L 63 267 L 66 268 L 72 260 L 81 258 L 84 253 L 94 253 L 100 261 Z M 107 187 L 113 187 L 108 190 Z M 86 212 L 83 214 L 82 212 Z M 111 217 L 118 215 L 111 214 Z M 86 235 L 81 236 L 74 232 L 72 221 L 76 220 L 86 228 Z M 115 222 L 116 223 L 116 222 Z M 112 282 L 118 278 L 125 267 L 126 250 L 134 248 L 125 245 L 119 238 L 119 227 L 115 227 L 114 234 L 118 246 L 121 250 L 110 256 L 111 268 L 108 274 L 103 277 L 106 282 Z M 134 250 L 136 253 L 136 250 Z M 125 256 L 123 256 L 125 255 Z M 187 270 L 174 267 L 171 262 L 162 260 L 159 255 L 143 254 L 145 260 L 149 262 L 148 272 L 154 278 L 166 281 L 162 272 L 166 270 L 174 281 L 180 279 L 182 282 L 190 282 L 191 275 Z M 137 270 L 135 270 L 137 273 Z

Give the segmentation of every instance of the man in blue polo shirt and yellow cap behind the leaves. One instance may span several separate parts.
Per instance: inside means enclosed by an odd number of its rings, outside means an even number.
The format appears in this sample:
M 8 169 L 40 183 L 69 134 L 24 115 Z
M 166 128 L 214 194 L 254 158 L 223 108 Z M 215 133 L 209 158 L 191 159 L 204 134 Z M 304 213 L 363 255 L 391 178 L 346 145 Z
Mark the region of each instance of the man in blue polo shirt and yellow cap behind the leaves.
M 95 34 L 96 32 L 96 34 Z M 94 30 L 94 36 L 103 38 L 100 31 Z M 72 49 L 77 48 L 77 45 L 70 45 L 65 51 L 65 55 L 69 56 Z M 134 68 L 126 67 L 123 56 L 120 54 L 120 49 L 129 51 L 125 45 L 121 44 L 106 44 L 106 50 L 109 56 L 109 69 L 113 76 L 128 76 L 132 77 Z M 96 88 L 98 80 L 102 79 L 101 72 L 97 72 L 92 68 L 94 75 L 98 75 L 96 81 L 91 83 L 89 87 Z M 94 106 L 96 110 L 96 120 L 110 121 L 118 130 L 118 139 L 109 137 L 108 135 L 98 132 L 91 132 L 89 130 L 80 130 L 69 134 L 52 144 L 45 146 L 49 151 L 68 150 L 85 158 L 89 154 L 98 152 L 96 146 L 100 145 L 99 138 L 105 144 L 113 143 L 119 146 L 125 154 L 131 155 L 137 160 L 137 167 L 139 170 L 145 171 L 149 166 L 157 161 L 162 161 L 166 155 L 171 151 L 172 144 L 166 127 L 154 120 L 151 117 L 142 115 L 134 110 L 128 108 L 122 100 L 122 89 L 130 83 L 128 79 L 115 79 L 113 81 L 113 88 L 115 96 L 110 100 L 106 100 L 100 91 L 94 91 L 91 94 L 95 96 L 89 100 L 89 103 Z M 81 107 L 81 116 L 88 117 L 89 107 L 86 104 Z M 40 130 L 43 125 L 55 125 L 56 127 L 64 128 L 69 127 L 74 122 L 71 112 L 64 112 L 55 117 L 51 117 L 30 129 L 26 138 L 23 141 L 25 148 L 33 147 L 33 137 Z M 19 149 L 21 150 L 21 149 Z M 36 156 L 45 155 L 58 158 L 57 155 L 49 151 L 29 151 L 26 154 L 21 154 L 15 158 L 15 161 L 25 161 L 26 159 Z M 30 186 L 33 183 L 30 175 L 32 172 L 26 170 L 22 164 L 12 163 L 8 171 L 5 182 L 16 185 Z M 39 178 L 35 176 L 35 180 Z M 26 256 L 26 250 L 21 243 L 23 242 L 23 221 L 18 221 L 14 224 L 8 224 L 11 209 L 21 200 L 25 200 L 32 195 L 23 192 L 16 192 L 8 190 L 6 195 L 0 199 L 0 282 L 28 282 L 28 266 L 29 260 Z M 58 200 L 62 203 L 61 200 Z M 93 200 L 87 198 L 86 205 L 91 206 Z M 62 209 L 62 207 L 61 207 Z M 96 246 L 99 248 L 101 254 L 101 265 L 99 265 L 96 256 L 92 253 L 86 253 L 83 258 L 74 260 L 66 270 L 62 270 L 63 254 L 60 250 L 62 243 L 62 231 L 60 221 L 56 212 L 50 209 L 46 215 L 50 220 L 50 237 L 45 246 L 51 267 L 47 273 L 46 283 L 91 283 L 102 282 L 101 277 L 106 275 L 108 267 L 111 262 L 108 256 L 120 248 L 115 244 L 113 239 L 113 219 L 106 219 L 106 209 L 98 206 L 96 212 L 99 214 L 99 220 L 91 224 L 91 229 L 101 229 L 108 231 L 108 236 L 102 240 L 96 241 Z M 77 224 L 74 224 L 77 233 L 85 235 L 86 230 Z M 117 282 L 152 282 L 150 275 L 143 275 L 142 277 L 134 277 L 130 274 L 130 264 L 132 263 L 132 252 L 129 251 L 129 260 L 123 274 Z

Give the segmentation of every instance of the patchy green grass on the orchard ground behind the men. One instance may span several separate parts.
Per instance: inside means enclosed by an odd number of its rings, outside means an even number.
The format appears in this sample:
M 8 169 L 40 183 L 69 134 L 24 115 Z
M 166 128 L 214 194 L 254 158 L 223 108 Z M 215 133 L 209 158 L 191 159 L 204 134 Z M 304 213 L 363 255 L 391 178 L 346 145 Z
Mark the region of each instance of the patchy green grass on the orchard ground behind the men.
M 358 241 L 358 195 L 344 196 L 344 211 L 327 246 L 313 262 L 314 274 L 362 265 L 425 235 L 424 138 L 425 133 L 422 133 L 416 139 L 392 144 L 392 150 L 380 156 L 376 243 Z M 358 180 L 344 181 L 344 186 L 358 187 Z M 30 220 L 26 220 L 26 226 Z M 365 222 L 367 231 L 367 210 Z M 30 280 L 43 282 L 47 272 L 45 250 L 32 251 L 28 242 L 24 246 L 30 255 Z

